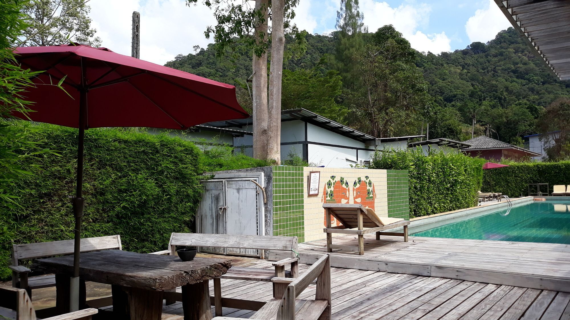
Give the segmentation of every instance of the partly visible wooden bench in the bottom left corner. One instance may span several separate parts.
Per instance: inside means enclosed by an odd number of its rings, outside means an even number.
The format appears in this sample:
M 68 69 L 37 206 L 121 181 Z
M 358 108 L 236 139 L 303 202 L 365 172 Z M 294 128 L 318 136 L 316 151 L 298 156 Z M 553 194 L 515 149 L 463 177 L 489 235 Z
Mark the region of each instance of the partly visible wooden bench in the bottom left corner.
M 0 286 L 0 318 L 17 320 L 36 320 L 34 306 L 25 289 Z M 44 318 L 43 320 L 91 320 L 97 309 L 83 309 L 72 313 Z

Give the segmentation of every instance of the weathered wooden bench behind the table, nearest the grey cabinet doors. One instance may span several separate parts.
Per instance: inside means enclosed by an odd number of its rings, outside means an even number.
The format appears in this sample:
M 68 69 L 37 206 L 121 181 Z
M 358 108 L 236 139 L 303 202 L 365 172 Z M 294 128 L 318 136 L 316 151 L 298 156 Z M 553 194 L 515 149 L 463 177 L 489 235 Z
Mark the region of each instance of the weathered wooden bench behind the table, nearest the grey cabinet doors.
M 275 277 L 292 277 L 299 274 L 299 258 L 297 256 L 297 237 L 283 236 L 250 236 L 250 235 L 217 235 L 209 233 L 172 233 L 169 241 L 169 250 L 153 252 L 156 255 L 176 255 L 176 246 L 185 247 L 214 247 L 214 248 L 237 248 L 258 249 L 271 251 L 285 251 L 290 256 L 286 259 L 273 262 L 274 270 L 250 267 L 231 267 L 226 274 L 214 278 L 214 305 L 215 314 L 222 315 L 222 306 L 233 307 L 239 305 L 239 309 L 257 310 L 259 303 L 250 303 L 247 300 L 232 299 L 231 305 L 222 299 L 221 279 L 236 279 L 248 281 L 271 282 Z M 285 266 L 290 265 L 290 270 Z M 274 297 L 281 297 L 287 284 L 273 284 Z M 181 301 L 182 297 L 177 293 L 170 294 L 167 303 L 172 300 Z M 248 309 L 251 308 L 251 309 Z

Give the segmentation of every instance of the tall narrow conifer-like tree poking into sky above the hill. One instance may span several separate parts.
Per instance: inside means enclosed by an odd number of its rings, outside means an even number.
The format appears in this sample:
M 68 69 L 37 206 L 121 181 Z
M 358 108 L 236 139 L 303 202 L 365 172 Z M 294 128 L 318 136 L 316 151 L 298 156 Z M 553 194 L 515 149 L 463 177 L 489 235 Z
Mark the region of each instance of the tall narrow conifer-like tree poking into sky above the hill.
M 339 71 L 346 88 L 353 88 L 360 82 L 356 56 L 364 50 L 364 33 L 368 32 L 363 19 L 358 0 L 340 0 L 340 9 L 336 11 L 336 48 L 331 65 Z

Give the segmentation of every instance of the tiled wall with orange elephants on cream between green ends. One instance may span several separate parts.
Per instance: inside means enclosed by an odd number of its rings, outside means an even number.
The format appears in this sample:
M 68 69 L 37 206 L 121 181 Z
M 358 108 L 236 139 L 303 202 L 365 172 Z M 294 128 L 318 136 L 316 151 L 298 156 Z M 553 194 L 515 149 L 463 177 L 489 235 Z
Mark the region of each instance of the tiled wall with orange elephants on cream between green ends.
M 273 167 L 273 233 L 299 242 L 325 238 L 323 203 L 360 203 L 380 216 L 409 219 L 408 171 Z M 308 196 L 308 175 L 320 171 L 319 195 Z M 334 218 L 332 225 L 340 225 Z

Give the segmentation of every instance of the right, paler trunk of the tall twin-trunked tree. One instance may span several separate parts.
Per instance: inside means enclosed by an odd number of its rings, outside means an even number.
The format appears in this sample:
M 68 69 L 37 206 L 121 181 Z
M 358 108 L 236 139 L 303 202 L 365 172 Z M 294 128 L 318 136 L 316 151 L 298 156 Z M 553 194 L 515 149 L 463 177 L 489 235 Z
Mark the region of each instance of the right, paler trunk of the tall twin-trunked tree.
M 269 73 L 269 136 L 267 159 L 281 163 L 281 79 L 283 75 L 284 0 L 271 1 L 271 66 Z

